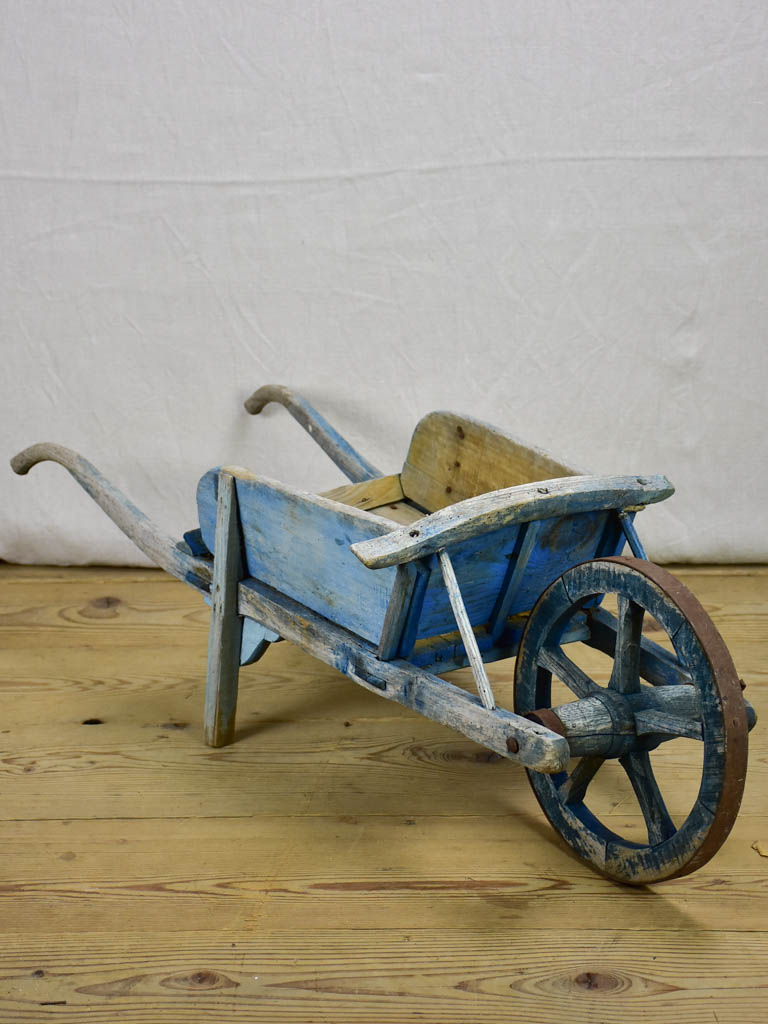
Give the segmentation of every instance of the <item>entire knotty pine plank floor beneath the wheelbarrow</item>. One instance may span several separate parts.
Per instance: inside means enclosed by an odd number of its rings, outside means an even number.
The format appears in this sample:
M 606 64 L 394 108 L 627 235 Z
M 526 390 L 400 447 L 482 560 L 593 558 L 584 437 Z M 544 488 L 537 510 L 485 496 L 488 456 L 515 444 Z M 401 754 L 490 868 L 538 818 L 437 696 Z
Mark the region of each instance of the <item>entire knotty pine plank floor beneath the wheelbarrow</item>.
M 768 722 L 768 569 L 677 571 Z M 0 566 L 0 1021 L 768 1020 L 763 725 L 716 859 L 621 888 L 520 769 L 288 644 L 243 670 L 238 741 L 206 748 L 207 618 L 159 571 Z M 511 702 L 510 676 L 490 667 Z

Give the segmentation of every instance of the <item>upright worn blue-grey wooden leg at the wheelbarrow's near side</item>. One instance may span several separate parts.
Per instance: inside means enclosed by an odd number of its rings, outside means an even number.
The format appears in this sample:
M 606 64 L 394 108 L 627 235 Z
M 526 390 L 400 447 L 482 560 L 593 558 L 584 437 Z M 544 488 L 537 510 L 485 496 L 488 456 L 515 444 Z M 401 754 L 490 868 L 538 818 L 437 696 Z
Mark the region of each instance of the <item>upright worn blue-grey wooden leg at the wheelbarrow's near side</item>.
M 243 620 L 238 614 L 238 584 L 242 579 L 243 556 L 234 479 L 228 473 L 220 473 L 204 719 L 205 740 L 209 746 L 226 746 L 234 738 L 243 635 Z

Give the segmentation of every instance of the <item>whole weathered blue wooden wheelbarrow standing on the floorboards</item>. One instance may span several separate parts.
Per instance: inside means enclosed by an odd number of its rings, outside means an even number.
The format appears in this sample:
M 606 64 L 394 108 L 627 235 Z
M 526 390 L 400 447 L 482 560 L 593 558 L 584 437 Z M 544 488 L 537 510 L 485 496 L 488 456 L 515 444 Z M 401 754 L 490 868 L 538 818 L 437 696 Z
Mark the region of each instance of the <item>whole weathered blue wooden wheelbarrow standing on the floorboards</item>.
M 75 452 L 36 444 L 11 462 L 17 473 L 60 463 L 141 551 L 210 602 L 207 741 L 232 740 L 240 666 L 285 638 L 520 762 L 556 830 L 611 879 L 657 882 L 706 863 L 738 811 L 755 714 L 710 617 L 646 559 L 636 532 L 636 514 L 672 495 L 669 480 L 582 475 L 450 413 L 419 423 L 401 472 L 387 476 L 286 388 L 259 389 L 246 409 L 270 401 L 352 482 L 314 495 L 212 469 L 198 486 L 200 526 L 180 542 Z M 633 557 L 622 556 L 626 543 Z M 606 685 L 580 668 L 581 645 L 611 659 Z M 514 712 L 497 706 L 485 672 L 512 656 Z M 440 678 L 467 665 L 476 693 Z M 553 687 L 566 698 L 555 701 Z M 676 823 L 650 753 L 680 737 L 697 740 L 702 759 L 695 801 Z M 590 810 L 590 783 L 611 760 L 637 797 L 641 841 Z

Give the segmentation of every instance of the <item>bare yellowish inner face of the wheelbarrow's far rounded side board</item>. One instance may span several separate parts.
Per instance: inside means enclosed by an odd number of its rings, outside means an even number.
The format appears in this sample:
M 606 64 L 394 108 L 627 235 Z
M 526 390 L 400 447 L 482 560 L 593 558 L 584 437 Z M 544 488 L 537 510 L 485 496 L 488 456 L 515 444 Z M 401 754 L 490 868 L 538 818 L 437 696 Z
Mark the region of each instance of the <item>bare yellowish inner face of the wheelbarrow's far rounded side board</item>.
M 400 481 L 407 498 L 435 512 L 489 490 L 580 472 L 479 420 L 438 412 L 417 425 Z

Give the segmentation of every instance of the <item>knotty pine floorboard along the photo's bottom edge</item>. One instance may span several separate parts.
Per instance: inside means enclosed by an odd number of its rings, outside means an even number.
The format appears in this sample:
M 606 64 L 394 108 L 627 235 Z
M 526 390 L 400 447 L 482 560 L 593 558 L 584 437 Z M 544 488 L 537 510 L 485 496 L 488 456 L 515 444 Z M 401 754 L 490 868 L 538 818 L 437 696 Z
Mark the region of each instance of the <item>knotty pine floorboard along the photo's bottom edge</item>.
M 312 928 L 90 940 L 9 936 L 0 1020 L 112 1024 L 762 1024 L 764 935 L 606 928 L 454 933 Z M 41 1008 L 43 1000 L 66 1006 Z M 45 1014 L 42 1017 L 41 1014 Z

